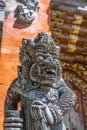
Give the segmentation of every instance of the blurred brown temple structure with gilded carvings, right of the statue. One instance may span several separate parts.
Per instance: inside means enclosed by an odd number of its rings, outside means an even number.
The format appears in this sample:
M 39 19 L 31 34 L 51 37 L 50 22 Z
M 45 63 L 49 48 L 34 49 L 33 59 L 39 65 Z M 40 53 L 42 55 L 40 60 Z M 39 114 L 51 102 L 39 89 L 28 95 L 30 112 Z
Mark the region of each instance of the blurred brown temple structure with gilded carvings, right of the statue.
M 64 4 L 56 0 L 51 0 L 50 10 L 52 37 L 61 47 L 60 59 L 64 70 L 64 77 L 77 95 L 75 111 L 79 113 L 81 124 L 84 124 L 84 128 L 77 127 L 77 129 L 86 130 L 87 11 L 79 9 L 77 5 Z M 71 127 L 73 127 L 71 129 L 76 129 L 72 123 Z

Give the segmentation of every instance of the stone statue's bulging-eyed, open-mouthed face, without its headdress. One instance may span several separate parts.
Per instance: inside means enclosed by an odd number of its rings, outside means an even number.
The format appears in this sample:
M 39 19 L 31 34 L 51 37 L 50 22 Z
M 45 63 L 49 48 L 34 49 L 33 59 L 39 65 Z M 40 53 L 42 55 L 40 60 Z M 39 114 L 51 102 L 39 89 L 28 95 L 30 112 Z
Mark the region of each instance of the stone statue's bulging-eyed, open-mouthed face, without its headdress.
M 38 45 L 38 51 L 35 53 L 35 62 L 30 69 L 31 80 L 41 85 L 55 85 L 58 71 L 57 64 L 57 54 L 55 52 L 46 52 L 43 46 Z

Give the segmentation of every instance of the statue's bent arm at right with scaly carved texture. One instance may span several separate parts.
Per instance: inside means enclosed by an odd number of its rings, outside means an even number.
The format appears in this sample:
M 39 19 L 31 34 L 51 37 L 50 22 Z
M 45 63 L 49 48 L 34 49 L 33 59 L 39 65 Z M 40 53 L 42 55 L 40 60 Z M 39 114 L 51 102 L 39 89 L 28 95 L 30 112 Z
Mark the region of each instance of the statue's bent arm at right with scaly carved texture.
M 61 122 L 64 114 L 66 114 L 75 104 L 76 96 L 72 90 L 66 85 L 64 80 L 58 84 L 59 101 L 53 105 L 50 110 L 54 117 L 54 123 Z

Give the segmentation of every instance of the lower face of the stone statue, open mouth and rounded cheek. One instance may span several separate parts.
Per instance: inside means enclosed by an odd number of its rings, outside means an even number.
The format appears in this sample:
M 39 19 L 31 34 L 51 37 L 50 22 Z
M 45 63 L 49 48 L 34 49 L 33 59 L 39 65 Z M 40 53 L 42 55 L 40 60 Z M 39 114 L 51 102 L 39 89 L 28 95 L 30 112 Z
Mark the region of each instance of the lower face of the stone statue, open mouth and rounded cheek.
M 54 65 L 43 65 L 39 67 L 33 64 L 30 69 L 30 79 L 33 82 L 52 85 L 57 79 L 57 68 Z

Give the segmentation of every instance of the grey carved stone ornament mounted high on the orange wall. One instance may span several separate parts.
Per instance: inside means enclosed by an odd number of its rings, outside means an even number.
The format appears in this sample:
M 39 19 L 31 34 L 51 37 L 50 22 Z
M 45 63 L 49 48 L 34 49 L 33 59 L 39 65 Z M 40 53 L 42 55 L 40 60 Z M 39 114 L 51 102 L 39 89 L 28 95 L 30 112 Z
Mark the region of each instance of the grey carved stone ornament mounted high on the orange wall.
M 17 17 L 24 23 L 31 23 L 37 16 L 39 0 L 20 0 L 17 6 Z

